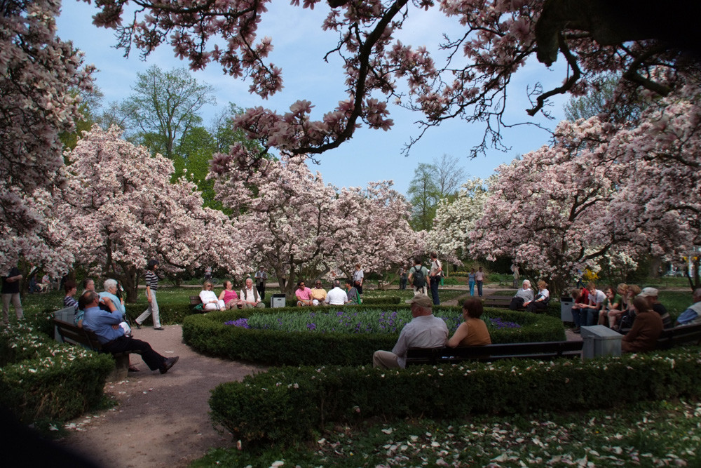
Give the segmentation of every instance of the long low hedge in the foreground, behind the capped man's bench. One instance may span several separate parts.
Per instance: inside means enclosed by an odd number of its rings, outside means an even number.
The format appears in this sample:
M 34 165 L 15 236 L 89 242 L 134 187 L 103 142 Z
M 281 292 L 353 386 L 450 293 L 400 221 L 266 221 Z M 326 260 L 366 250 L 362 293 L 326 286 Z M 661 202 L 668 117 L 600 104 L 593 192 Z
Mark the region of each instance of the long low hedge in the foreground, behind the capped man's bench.
M 273 368 L 212 391 L 215 424 L 246 443 L 308 441 L 325 424 L 372 417 L 591 410 L 701 395 L 700 348 L 552 363 L 523 360 L 416 366 Z M 601 392 L 592 389 L 606 389 Z M 318 433 L 317 433 L 318 434 Z

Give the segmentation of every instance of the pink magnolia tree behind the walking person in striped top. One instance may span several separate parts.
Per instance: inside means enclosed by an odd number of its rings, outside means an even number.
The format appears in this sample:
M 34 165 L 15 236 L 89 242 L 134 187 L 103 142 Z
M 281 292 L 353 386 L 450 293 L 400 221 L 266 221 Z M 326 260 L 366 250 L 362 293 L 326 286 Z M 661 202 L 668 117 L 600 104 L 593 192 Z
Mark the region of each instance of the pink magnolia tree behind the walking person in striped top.
M 151 258 L 166 272 L 216 263 L 232 274 L 250 269 L 241 234 L 226 215 L 202 207 L 189 180 L 171 183 L 172 161 L 93 126 L 72 151 L 61 215 L 69 245 L 89 272 L 121 281 L 127 298 Z

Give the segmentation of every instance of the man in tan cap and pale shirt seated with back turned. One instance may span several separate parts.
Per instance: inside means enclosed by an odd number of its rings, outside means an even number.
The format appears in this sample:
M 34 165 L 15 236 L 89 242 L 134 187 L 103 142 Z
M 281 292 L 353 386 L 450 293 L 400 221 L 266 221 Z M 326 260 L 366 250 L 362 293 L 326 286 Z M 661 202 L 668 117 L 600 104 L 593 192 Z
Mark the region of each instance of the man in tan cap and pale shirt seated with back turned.
M 376 351 L 372 355 L 372 366 L 380 368 L 405 368 L 407 366 L 407 349 L 437 348 L 445 346 L 448 340 L 448 327 L 443 319 L 433 316 L 433 300 L 426 294 L 416 294 L 409 302 L 411 316 L 399 335 L 392 352 Z

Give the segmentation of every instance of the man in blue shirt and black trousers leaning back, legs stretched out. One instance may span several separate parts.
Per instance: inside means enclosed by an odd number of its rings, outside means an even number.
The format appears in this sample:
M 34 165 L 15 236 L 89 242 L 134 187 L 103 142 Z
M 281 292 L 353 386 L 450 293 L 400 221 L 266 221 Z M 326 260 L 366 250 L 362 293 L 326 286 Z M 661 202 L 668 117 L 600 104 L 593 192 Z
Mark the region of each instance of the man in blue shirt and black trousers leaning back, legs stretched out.
M 100 302 L 106 305 L 110 312 L 100 309 Z M 122 321 L 122 314 L 109 297 L 100 299 L 100 296 L 95 291 L 88 291 L 81 295 L 78 303 L 81 309 L 85 309 L 83 328 L 95 332 L 97 340 L 100 341 L 102 349 L 105 351 L 113 354 L 127 351 L 141 354 L 141 359 L 149 366 L 149 369 L 158 369 L 161 371 L 161 374 L 168 372 L 180 359 L 179 356 L 166 359 L 155 352 L 149 343 L 125 336 L 119 326 L 119 323 Z

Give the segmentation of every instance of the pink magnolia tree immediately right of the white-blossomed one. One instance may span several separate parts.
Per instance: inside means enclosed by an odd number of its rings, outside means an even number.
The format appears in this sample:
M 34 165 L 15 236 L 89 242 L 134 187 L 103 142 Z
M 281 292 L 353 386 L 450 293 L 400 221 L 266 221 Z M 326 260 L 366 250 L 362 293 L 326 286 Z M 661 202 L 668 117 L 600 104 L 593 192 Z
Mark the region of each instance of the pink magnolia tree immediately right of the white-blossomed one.
M 597 118 L 564 121 L 552 147 L 497 168 L 484 215 L 467 234 L 472 253 L 512 258 L 562 290 L 577 269 L 625 242 L 625 223 L 605 221 L 627 177 L 606 154 L 606 133 Z

